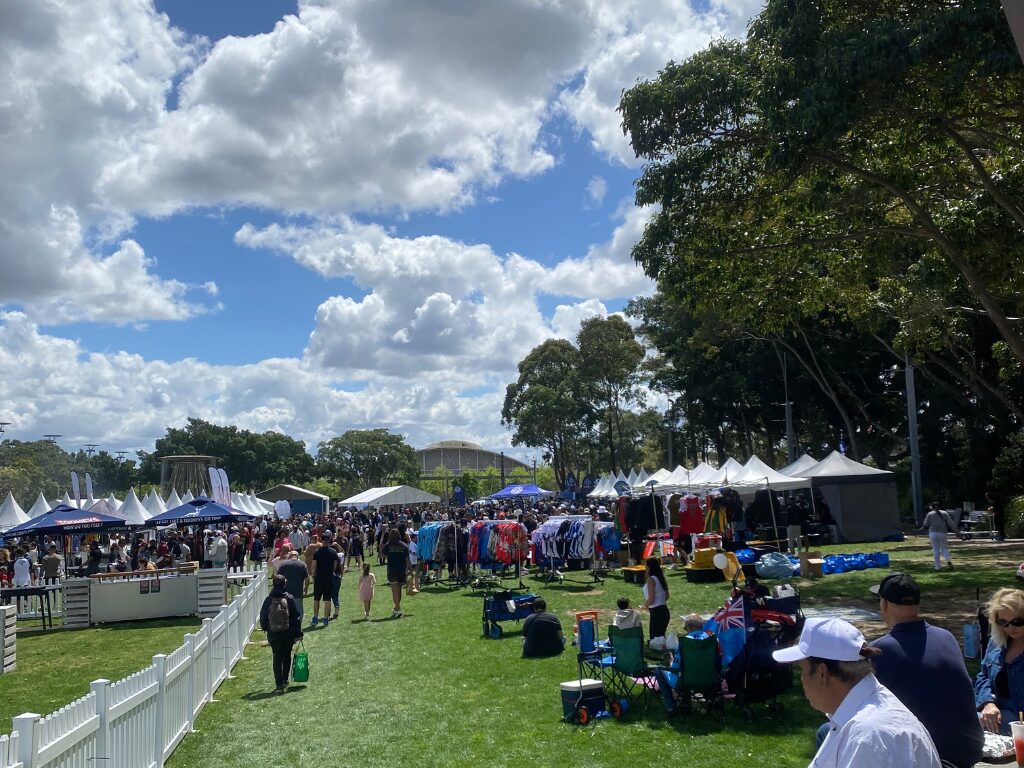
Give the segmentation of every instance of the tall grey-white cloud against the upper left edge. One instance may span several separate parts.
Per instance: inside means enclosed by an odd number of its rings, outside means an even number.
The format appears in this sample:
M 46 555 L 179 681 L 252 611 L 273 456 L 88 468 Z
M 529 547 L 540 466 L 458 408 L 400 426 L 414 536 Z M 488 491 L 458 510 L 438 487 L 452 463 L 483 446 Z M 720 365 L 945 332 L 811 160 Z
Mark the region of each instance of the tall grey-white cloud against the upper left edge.
M 193 53 L 130 0 L 0 6 L 0 306 L 48 323 L 194 313 L 186 286 L 117 242 L 131 217 L 93 189 L 126 137 L 159 119 Z

